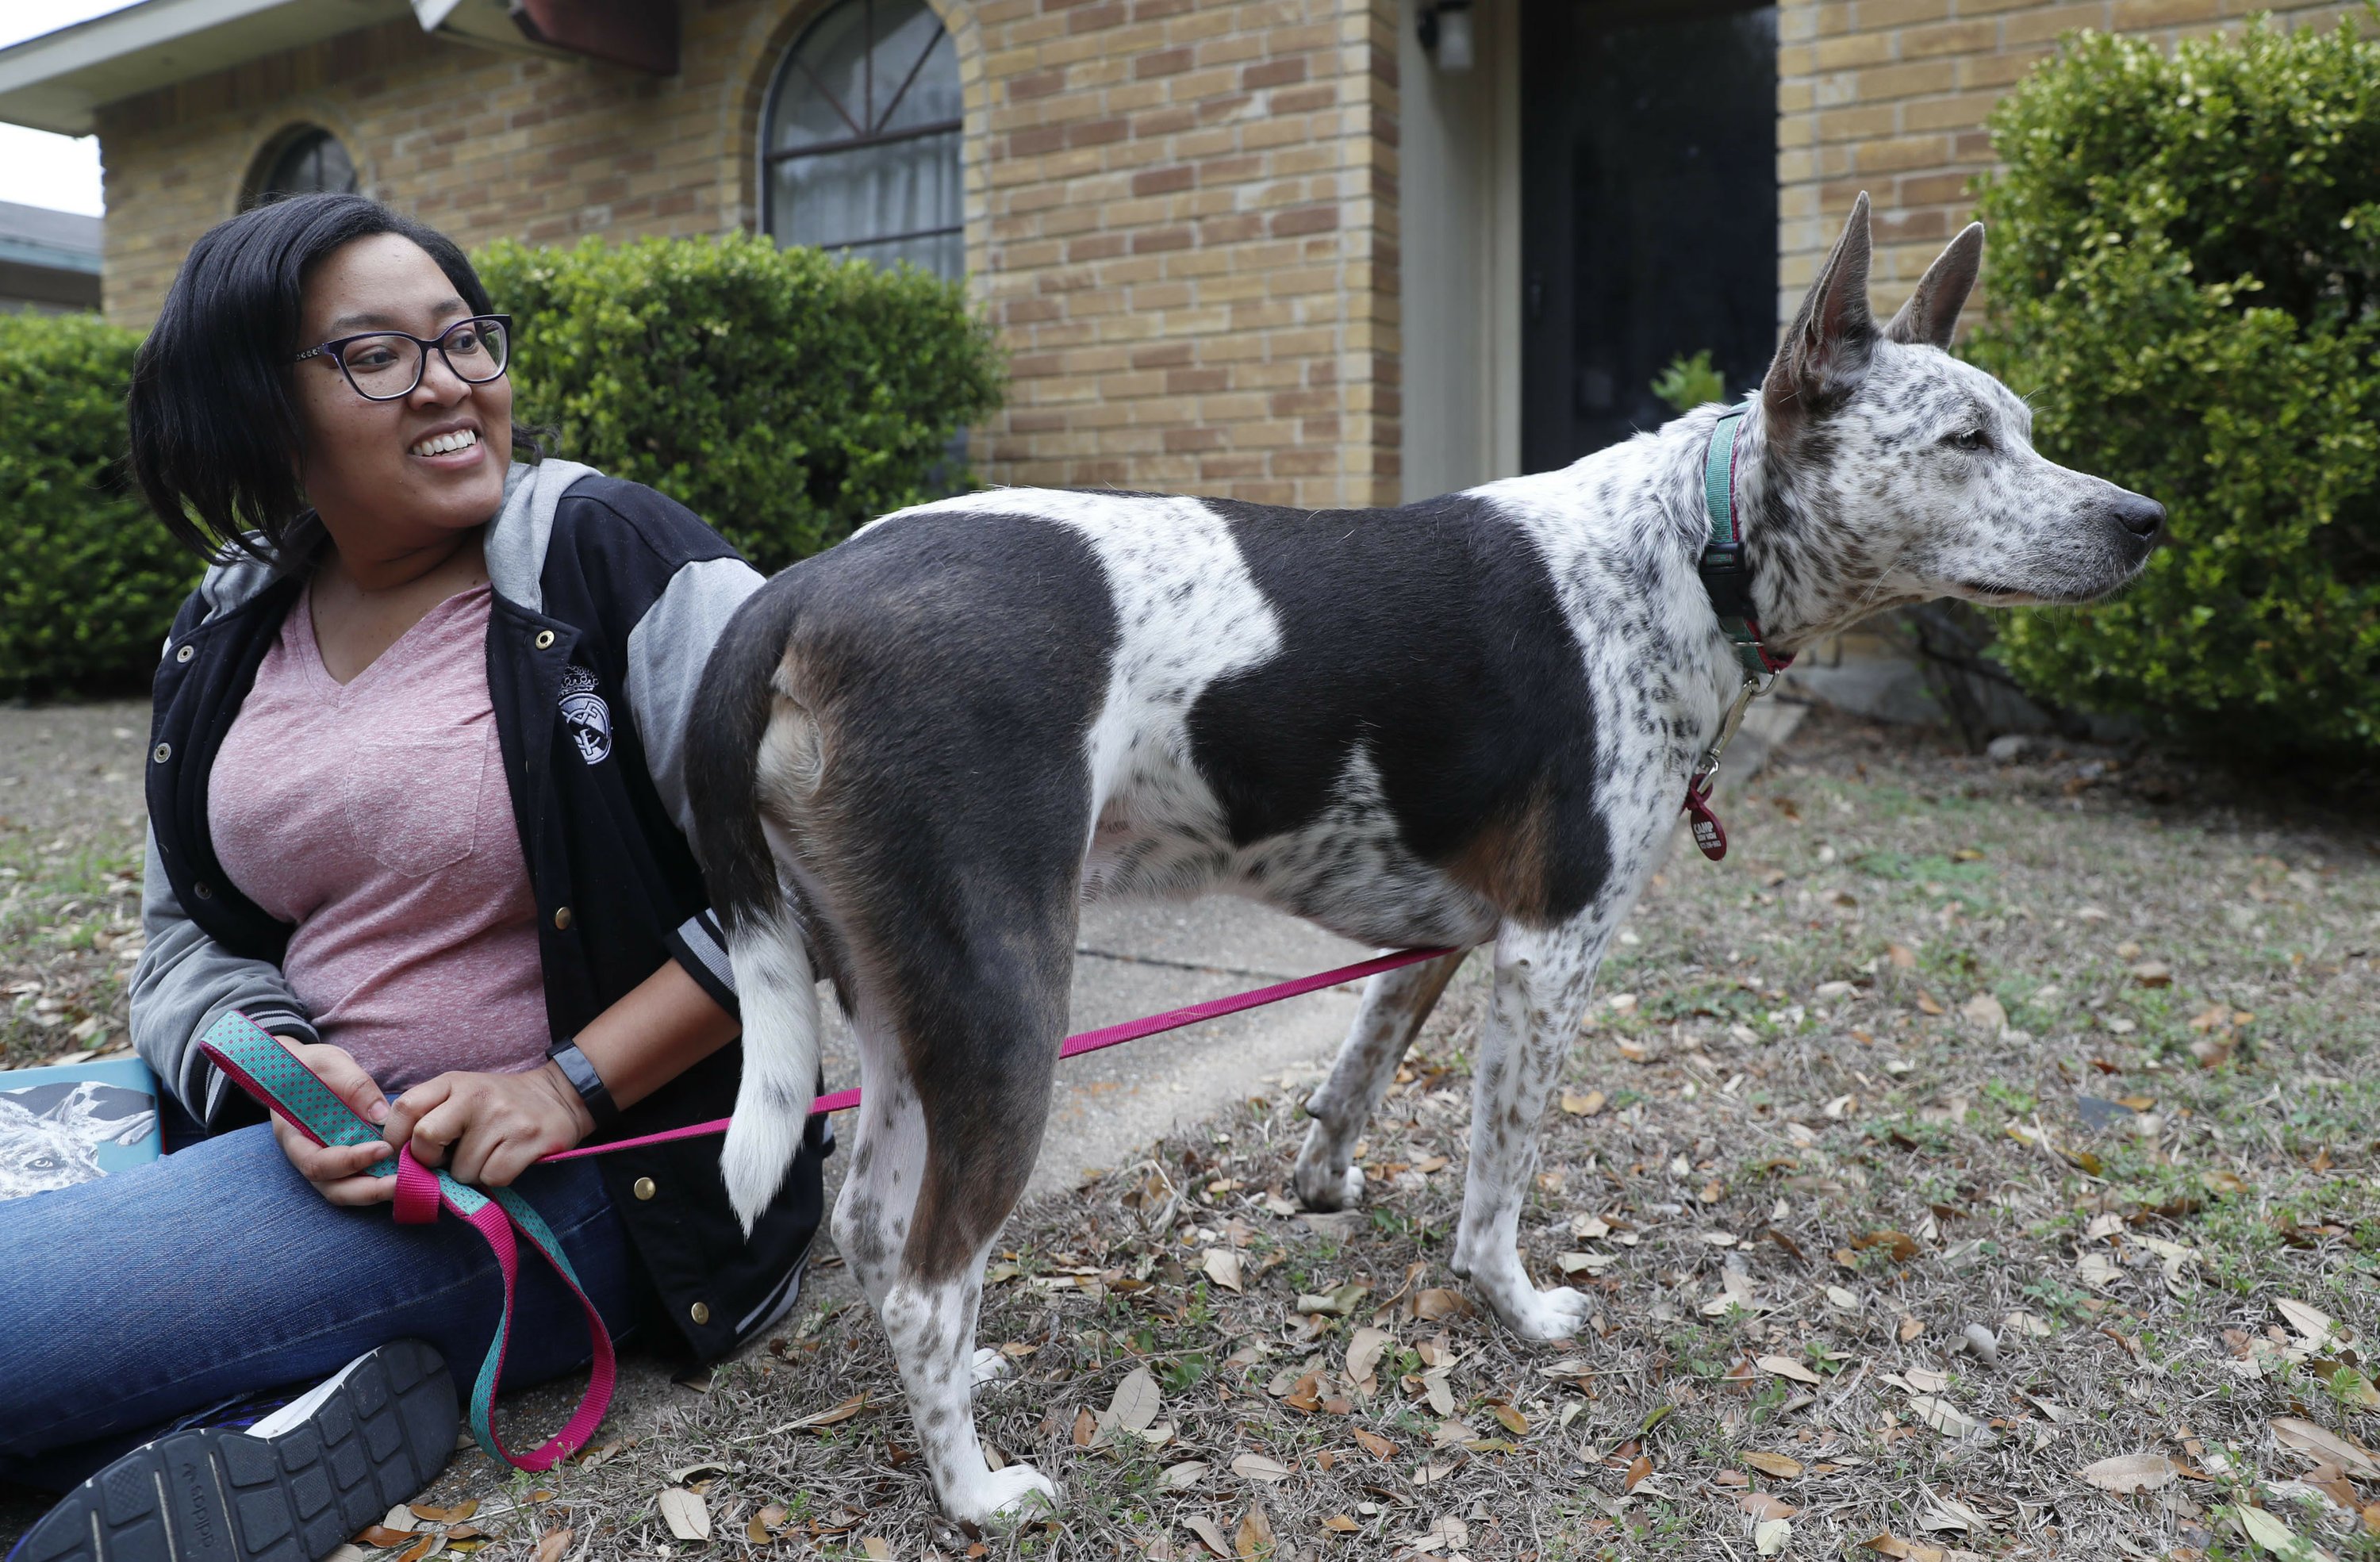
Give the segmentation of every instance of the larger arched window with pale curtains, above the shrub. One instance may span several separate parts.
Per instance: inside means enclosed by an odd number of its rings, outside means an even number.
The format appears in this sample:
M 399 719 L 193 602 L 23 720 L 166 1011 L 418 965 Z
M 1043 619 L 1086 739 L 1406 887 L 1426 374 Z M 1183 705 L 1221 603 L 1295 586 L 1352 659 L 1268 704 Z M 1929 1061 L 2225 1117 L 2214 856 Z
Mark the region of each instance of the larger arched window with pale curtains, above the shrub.
M 788 50 L 762 210 L 781 245 L 964 274 L 959 50 L 923 0 L 840 0 Z

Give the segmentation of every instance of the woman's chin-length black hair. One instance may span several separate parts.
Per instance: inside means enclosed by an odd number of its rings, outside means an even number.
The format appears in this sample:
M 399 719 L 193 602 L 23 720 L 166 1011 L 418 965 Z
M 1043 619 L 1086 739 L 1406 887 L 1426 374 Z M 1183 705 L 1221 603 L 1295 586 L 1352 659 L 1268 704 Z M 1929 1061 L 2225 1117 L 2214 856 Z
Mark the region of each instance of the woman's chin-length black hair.
M 298 486 L 305 436 L 290 398 L 300 293 L 340 245 L 397 233 L 421 245 L 469 305 L 488 288 L 445 233 L 367 195 L 293 195 L 207 229 L 133 360 L 131 464 L 150 510 L 207 562 L 250 555 L 298 567 L 319 521 Z M 516 448 L 538 431 L 514 421 Z

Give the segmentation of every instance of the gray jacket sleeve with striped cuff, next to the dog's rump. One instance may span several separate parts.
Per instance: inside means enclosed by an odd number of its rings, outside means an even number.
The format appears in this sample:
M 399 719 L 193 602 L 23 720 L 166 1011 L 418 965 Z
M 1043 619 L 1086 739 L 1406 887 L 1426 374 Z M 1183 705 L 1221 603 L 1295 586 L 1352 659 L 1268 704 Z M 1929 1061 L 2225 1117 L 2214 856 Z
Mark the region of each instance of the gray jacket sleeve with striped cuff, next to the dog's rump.
M 695 814 L 685 800 L 685 729 L 695 688 L 728 617 L 759 586 L 759 571 L 738 557 L 678 564 L 669 586 L 628 631 L 628 710 L 645 745 L 652 786 L 688 845 L 695 845 Z M 688 917 L 669 945 L 719 1007 L 738 1012 L 728 950 L 709 910 Z

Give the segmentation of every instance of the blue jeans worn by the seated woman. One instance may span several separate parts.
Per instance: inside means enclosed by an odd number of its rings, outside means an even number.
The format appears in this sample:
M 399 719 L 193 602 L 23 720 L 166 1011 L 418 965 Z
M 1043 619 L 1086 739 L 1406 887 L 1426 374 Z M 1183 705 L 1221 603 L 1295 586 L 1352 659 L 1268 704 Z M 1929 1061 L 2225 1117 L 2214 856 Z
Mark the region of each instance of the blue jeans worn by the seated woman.
M 531 1167 L 514 1186 L 621 1338 L 635 1257 L 595 1164 Z M 476 1231 L 324 1202 L 264 1124 L 0 1200 L 0 1479 L 62 1491 L 176 1417 L 324 1379 L 400 1338 L 436 1345 L 469 1402 L 502 1298 Z M 590 1352 L 578 1300 L 524 1241 L 505 1388 Z

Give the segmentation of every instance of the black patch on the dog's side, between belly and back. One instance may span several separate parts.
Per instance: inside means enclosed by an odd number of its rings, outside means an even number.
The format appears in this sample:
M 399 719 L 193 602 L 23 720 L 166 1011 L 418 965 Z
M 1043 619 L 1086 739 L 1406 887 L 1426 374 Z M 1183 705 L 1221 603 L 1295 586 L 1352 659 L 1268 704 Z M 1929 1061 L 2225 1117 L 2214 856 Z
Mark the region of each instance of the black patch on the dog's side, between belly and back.
M 1528 536 L 1471 495 L 1209 510 L 1283 633 L 1190 712 L 1233 845 L 1311 829 L 1361 752 L 1414 857 L 1526 921 L 1587 905 L 1611 869 L 1595 710 Z

